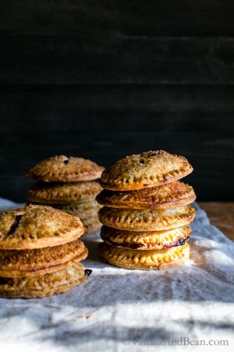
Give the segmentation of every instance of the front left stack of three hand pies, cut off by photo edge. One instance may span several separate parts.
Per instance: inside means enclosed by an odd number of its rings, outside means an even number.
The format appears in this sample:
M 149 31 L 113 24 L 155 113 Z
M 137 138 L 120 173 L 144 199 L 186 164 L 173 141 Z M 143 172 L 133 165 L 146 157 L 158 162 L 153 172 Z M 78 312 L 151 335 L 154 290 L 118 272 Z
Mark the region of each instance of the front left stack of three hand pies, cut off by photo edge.
M 0 215 L 0 296 L 39 298 L 81 284 L 91 270 L 79 218 L 50 206 L 24 206 Z

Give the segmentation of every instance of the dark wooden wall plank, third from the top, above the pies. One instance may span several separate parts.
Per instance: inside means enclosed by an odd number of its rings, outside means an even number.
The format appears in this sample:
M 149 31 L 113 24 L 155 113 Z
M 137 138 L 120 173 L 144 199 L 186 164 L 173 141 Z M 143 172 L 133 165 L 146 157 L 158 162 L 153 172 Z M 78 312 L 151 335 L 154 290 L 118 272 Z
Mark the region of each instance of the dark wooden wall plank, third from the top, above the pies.
M 157 133 L 171 128 L 176 133 L 214 132 L 228 140 L 234 132 L 233 94 L 232 85 L 0 86 L 0 133 L 86 128 L 97 134 L 126 129 L 154 133 L 153 126 Z

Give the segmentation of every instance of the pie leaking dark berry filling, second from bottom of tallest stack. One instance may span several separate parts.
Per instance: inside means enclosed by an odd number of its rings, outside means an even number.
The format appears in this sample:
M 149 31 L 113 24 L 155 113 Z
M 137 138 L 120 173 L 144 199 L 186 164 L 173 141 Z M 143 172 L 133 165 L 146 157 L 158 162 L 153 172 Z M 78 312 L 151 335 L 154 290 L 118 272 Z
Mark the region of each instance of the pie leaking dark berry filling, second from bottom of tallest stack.
M 188 241 L 190 233 L 191 227 L 189 225 L 177 229 L 149 232 L 117 230 L 103 225 L 100 237 L 112 246 L 142 251 L 182 246 Z

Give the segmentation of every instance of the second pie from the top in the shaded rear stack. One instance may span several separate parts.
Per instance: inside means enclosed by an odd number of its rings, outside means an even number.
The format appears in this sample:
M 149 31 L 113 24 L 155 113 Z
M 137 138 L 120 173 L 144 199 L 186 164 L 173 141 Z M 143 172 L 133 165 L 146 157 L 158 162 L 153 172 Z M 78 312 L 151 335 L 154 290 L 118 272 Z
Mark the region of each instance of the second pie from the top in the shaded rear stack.
M 37 182 L 30 187 L 27 201 L 30 203 L 71 203 L 92 201 L 102 188 L 98 182 Z

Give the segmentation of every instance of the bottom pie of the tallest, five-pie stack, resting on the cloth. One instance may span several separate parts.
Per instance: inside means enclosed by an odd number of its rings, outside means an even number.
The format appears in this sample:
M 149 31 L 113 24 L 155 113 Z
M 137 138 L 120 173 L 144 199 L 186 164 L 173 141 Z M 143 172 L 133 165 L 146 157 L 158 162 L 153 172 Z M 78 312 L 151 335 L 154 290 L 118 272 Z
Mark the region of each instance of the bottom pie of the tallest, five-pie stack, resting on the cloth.
M 183 264 L 190 256 L 190 246 L 171 247 L 161 251 L 135 251 L 99 244 L 100 258 L 106 263 L 126 269 L 162 270 Z

